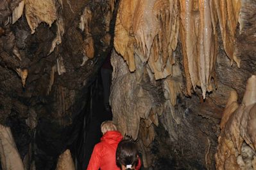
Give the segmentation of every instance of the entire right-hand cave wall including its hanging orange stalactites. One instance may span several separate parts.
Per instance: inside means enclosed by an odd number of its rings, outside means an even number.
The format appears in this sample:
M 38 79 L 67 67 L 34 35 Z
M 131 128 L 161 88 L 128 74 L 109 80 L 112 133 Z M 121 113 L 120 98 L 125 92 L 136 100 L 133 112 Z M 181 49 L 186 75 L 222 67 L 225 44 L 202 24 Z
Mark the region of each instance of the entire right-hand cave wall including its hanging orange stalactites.
M 219 169 L 216 162 L 228 160 L 214 154 L 230 91 L 241 102 L 256 72 L 253 8 L 254 1 L 120 2 L 110 101 L 121 132 L 139 140 L 144 167 Z

